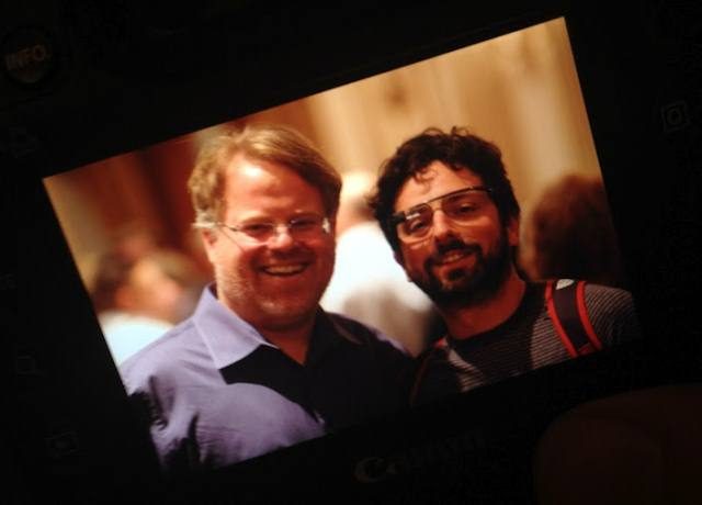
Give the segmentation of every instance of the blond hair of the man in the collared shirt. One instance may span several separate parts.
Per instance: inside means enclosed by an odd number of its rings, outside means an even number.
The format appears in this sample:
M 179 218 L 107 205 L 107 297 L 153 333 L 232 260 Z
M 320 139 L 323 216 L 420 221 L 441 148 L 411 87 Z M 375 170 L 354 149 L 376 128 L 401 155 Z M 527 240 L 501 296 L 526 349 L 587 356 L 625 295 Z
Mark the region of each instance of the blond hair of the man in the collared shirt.
M 319 190 L 328 217 L 339 207 L 341 177 L 299 132 L 281 125 L 247 125 L 212 138 L 200 150 L 188 180 L 196 227 L 212 227 L 224 212 L 225 169 L 238 154 L 283 165 Z

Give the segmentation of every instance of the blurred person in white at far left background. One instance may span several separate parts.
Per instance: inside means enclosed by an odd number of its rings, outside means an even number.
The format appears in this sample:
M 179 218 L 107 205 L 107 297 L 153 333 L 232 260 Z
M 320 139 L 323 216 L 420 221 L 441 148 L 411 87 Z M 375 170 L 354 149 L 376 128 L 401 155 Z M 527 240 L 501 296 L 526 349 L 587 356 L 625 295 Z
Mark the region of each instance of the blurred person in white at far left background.
M 114 361 L 120 364 L 185 318 L 199 281 L 183 255 L 113 250 L 100 258 L 91 298 Z

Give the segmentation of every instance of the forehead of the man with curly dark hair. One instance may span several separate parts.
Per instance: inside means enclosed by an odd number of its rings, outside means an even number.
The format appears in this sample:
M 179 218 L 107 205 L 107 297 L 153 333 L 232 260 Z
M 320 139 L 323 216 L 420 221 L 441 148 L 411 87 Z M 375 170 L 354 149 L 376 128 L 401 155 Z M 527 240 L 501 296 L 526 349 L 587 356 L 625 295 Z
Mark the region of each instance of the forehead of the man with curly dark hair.
M 405 181 L 395 199 L 395 212 L 444 195 L 468 186 L 482 186 L 483 179 L 467 168 L 454 170 L 442 161 L 432 161 Z

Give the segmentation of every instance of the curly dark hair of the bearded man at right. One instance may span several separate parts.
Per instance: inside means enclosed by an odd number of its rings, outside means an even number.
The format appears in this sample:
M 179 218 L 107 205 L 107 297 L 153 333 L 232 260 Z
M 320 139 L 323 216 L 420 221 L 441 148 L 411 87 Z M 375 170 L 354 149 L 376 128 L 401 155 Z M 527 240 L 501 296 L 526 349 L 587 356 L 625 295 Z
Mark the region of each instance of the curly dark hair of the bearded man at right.
M 375 192 L 369 205 L 394 250 L 399 249 L 397 229 L 390 224 L 395 213 L 395 200 L 405 181 L 417 178 L 432 161 L 441 161 L 453 170 L 468 169 L 483 179 L 491 189 L 491 198 L 498 209 L 500 221 L 507 225 L 519 218 L 520 209 L 512 184 L 502 165 L 502 154 L 492 143 L 454 126 L 445 133 L 431 127 L 406 141 L 395 154 L 381 166 Z

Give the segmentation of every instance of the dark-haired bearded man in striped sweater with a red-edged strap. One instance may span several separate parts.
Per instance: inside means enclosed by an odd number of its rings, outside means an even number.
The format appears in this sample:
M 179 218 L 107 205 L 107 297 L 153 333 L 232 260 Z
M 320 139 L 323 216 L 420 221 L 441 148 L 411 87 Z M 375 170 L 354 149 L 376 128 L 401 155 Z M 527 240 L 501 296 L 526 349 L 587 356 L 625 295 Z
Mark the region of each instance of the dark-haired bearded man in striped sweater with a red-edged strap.
M 405 142 L 383 164 L 370 203 L 395 258 L 446 327 L 445 337 L 420 357 L 414 404 L 638 335 L 629 292 L 520 276 L 520 209 L 500 150 L 465 128 L 429 128 Z M 550 304 L 576 289 L 582 346 L 564 335 Z

